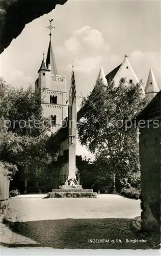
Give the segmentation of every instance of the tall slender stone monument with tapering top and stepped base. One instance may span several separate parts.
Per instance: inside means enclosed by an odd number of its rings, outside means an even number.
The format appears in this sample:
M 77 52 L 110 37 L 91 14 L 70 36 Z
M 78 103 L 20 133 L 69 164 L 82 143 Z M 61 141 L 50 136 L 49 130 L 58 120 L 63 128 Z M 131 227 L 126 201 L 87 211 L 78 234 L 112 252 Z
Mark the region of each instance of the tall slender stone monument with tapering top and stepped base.
M 71 84 L 69 92 L 69 106 L 68 106 L 68 165 L 69 172 L 68 175 L 65 174 L 64 185 L 60 186 L 59 189 L 52 189 L 51 193 L 48 193 L 49 198 L 55 197 L 89 197 L 97 198 L 97 193 L 93 192 L 93 189 L 83 189 L 82 185 L 79 184 L 76 179 L 76 157 L 75 157 L 75 147 L 76 147 L 76 90 L 75 90 L 75 76 L 72 67 Z

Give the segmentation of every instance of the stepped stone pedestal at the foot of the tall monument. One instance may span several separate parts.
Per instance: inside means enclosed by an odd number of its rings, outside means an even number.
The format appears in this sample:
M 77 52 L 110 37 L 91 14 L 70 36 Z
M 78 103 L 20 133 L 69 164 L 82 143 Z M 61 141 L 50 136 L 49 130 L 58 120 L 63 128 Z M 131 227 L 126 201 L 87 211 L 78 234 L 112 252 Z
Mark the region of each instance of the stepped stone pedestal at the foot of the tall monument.
M 94 193 L 93 189 L 83 189 L 81 185 L 63 185 L 61 188 L 52 189 L 52 192 L 49 192 L 47 197 L 97 198 L 97 193 Z

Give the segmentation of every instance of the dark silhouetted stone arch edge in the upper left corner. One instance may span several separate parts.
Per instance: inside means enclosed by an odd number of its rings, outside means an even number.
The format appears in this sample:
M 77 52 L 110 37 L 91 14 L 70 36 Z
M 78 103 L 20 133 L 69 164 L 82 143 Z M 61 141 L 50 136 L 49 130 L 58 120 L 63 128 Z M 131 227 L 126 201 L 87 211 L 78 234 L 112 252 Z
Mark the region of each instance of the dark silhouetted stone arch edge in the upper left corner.
M 67 0 L 1 0 L 0 54 L 21 33 L 25 24 L 66 2 Z

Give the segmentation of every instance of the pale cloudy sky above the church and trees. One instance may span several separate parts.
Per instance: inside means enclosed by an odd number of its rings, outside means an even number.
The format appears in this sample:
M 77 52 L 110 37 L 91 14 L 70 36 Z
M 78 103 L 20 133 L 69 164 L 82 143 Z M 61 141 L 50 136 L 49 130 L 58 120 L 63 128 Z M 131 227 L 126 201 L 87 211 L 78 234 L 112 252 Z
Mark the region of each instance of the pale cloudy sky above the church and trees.
M 139 79 L 146 85 L 150 67 L 160 89 L 160 1 L 68 0 L 49 14 L 27 24 L 0 56 L 0 76 L 14 87 L 27 88 L 38 77 L 49 44 L 49 19 L 53 18 L 52 48 L 58 73 L 67 76 L 69 88 L 74 63 L 77 109 L 81 96 L 95 85 L 100 67 L 105 75 L 127 54 Z

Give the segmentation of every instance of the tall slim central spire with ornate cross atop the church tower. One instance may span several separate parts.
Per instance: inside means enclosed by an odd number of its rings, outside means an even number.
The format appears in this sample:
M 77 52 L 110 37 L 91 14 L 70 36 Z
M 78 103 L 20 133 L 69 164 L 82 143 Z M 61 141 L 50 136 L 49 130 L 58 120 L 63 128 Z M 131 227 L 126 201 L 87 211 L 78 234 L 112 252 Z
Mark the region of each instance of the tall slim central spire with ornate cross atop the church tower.
M 49 46 L 48 46 L 48 51 L 47 51 L 47 57 L 46 57 L 46 67 L 51 71 L 51 75 L 58 75 L 57 72 L 57 66 L 56 66 L 56 60 L 53 54 L 52 46 L 51 46 L 51 30 L 55 29 L 55 27 L 52 26 L 52 21 L 53 19 L 49 19 L 49 26 L 46 27 L 50 30 L 49 36 Z

